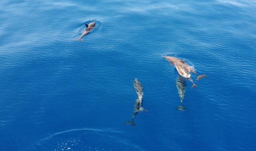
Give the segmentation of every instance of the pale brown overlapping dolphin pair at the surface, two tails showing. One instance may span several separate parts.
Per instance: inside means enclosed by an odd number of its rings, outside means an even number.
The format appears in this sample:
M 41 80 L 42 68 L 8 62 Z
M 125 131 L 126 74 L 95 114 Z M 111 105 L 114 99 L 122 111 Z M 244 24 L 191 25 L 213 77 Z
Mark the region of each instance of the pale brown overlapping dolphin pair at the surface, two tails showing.
M 177 70 L 177 72 L 179 73 L 179 75 L 186 77 L 189 79 L 189 81 L 192 82 L 194 87 L 197 87 L 196 84 L 194 84 L 193 80 L 191 79 L 191 74 L 189 74 L 190 72 L 198 75 L 195 71 L 194 68 L 192 68 L 191 66 L 185 64 L 185 60 L 179 60 L 178 58 L 175 57 L 171 57 L 171 56 L 165 56 L 165 59 L 168 60 L 169 62 L 171 62 L 171 65 L 175 65 L 175 68 Z M 206 77 L 207 75 L 198 75 L 196 81 Z

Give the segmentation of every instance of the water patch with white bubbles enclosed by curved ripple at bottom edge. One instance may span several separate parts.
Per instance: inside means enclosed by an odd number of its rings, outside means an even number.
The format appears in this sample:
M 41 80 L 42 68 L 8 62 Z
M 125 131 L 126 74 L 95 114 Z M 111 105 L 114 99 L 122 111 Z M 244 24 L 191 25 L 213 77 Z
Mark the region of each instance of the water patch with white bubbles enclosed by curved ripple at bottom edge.
M 24 151 L 145 151 L 121 137 L 122 132 L 112 129 L 71 129 L 36 141 Z

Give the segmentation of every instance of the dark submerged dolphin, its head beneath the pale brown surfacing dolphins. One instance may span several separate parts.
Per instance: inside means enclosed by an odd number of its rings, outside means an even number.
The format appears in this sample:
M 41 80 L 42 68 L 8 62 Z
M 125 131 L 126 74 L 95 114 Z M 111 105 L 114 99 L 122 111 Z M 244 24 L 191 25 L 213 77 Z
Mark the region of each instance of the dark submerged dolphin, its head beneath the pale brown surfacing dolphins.
M 185 97 L 185 90 L 186 90 L 186 79 L 185 77 L 182 77 L 181 75 L 179 75 L 179 77 L 177 78 L 176 80 L 176 87 L 178 89 L 178 93 L 179 93 L 179 97 L 181 98 L 181 105 L 177 106 L 175 109 L 176 110 L 186 110 L 187 111 L 187 108 L 185 108 L 183 106 L 183 100 L 184 100 L 184 97 Z

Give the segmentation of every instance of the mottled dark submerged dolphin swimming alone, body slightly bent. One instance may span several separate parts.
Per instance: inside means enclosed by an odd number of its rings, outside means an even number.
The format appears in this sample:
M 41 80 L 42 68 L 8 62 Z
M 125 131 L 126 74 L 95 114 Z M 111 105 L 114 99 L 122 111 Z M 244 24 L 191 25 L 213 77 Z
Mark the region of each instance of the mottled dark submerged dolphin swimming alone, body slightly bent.
M 138 98 L 136 99 L 135 104 L 134 104 L 133 118 L 131 118 L 131 121 L 125 122 L 125 124 L 131 124 L 132 126 L 136 126 L 136 124 L 134 122 L 135 116 L 139 112 L 146 111 L 146 110 L 142 107 L 142 105 L 143 105 L 143 87 L 137 78 L 135 78 L 133 80 L 133 86 L 137 92 Z

